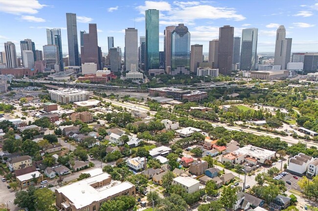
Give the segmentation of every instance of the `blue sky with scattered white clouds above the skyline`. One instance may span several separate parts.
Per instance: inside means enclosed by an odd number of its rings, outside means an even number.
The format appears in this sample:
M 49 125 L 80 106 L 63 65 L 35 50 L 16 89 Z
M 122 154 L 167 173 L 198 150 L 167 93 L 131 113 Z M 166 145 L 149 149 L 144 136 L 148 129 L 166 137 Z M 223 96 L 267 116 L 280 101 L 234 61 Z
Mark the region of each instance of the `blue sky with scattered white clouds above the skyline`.
M 98 44 L 107 52 L 107 37 L 124 48 L 124 29 L 136 27 L 145 35 L 144 11 L 159 9 L 160 50 L 165 26 L 184 23 L 191 33 L 191 44 L 217 39 L 219 27 L 234 26 L 234 36 L 242 29 L 258 28 L 258 52 L 273 52 L 278 25 L 293 38 L 292 52 L 318 51 L 318 0 L 0 0 L 0 42 L 15 42 L 20 53 L 21 40 L 35 42 L 36 49 L 46 44 L 46 28 L 61 28 L 63 52 L 68 52 L 66 13 L 76 13 L 78 36 L 97 23 Z M 3 51 L 3 44 L 0 44 Z

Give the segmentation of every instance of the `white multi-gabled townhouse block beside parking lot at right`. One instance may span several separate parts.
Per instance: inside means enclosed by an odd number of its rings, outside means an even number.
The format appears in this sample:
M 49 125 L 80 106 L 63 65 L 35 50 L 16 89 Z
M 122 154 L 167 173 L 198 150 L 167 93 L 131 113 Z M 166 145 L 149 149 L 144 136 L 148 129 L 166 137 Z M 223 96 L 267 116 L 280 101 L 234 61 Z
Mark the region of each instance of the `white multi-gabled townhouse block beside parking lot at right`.
M 313 157 L 305 155 L 304 153 L 299 153 L 294 157 L 289 159 L 288 170 L 298 174 L 303 174 L 308 169 L 309 163 L 314 160 Z

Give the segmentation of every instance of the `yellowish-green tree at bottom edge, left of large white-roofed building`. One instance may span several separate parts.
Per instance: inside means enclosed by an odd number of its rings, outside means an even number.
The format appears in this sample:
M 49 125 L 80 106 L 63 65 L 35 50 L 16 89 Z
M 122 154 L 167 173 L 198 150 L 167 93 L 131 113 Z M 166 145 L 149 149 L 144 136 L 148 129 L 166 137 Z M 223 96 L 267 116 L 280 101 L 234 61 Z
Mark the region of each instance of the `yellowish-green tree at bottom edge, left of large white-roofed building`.
M 55 201 L 54 193 L 47 189 L 37 189 L 34 191 L 34 204 L 38 211 L 49 211 Z

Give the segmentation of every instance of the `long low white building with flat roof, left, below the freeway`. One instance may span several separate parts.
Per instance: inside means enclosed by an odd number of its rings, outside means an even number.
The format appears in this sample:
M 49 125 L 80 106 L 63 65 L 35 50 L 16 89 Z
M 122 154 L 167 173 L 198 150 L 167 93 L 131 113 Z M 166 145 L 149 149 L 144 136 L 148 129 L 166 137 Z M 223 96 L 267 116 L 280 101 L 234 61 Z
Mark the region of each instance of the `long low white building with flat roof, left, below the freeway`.
M 55 102 L 62 104 L 68 104 L 71 102 L 87 101 L 89 99 L 90 92 L 74 89 L 74 88 L 59 88 L 57 90 L 48 90 L 51 99 Z

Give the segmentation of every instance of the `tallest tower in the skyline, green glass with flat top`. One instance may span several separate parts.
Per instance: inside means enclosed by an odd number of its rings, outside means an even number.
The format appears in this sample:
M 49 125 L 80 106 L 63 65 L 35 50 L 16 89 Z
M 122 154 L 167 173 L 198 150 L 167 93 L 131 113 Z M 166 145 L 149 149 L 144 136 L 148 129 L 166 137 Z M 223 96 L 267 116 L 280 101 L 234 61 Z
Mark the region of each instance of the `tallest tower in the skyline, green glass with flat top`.
M 159 10 L 146 10 L 146 63 L 145 68 L 159 68 Z

